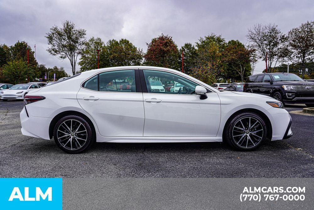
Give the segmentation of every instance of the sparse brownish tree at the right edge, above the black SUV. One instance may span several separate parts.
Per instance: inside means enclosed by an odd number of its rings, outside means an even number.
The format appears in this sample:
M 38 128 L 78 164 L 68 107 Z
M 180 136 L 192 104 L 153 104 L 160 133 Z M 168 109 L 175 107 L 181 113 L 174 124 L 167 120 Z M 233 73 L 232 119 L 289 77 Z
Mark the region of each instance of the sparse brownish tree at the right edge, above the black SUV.
M 307 21 L 301 26 L 288 32 L 287 50 L 288 59 L 302 65 L 302 78 L 304 79 L 306 63 L 314 59 L 314 21 Z

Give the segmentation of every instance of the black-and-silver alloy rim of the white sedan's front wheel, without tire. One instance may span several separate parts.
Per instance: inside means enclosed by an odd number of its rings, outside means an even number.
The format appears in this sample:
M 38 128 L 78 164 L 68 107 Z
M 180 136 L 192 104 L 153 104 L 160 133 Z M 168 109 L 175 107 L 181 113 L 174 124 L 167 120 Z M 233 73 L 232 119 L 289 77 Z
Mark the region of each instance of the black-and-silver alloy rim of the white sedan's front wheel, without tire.
M 232 138 L 242 148 L 252 148 L 263 139 L 264 129 L 260 121 L 254 117 L 243 117 L 232 129 Z

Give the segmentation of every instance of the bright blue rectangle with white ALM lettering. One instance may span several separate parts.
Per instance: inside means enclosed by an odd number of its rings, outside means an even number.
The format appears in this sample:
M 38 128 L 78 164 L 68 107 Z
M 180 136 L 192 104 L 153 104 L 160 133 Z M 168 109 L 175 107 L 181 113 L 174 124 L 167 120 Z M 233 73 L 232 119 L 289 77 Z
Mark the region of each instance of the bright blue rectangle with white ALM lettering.
M 0 178 L 1 209 L 62 209 L 62 178 Z

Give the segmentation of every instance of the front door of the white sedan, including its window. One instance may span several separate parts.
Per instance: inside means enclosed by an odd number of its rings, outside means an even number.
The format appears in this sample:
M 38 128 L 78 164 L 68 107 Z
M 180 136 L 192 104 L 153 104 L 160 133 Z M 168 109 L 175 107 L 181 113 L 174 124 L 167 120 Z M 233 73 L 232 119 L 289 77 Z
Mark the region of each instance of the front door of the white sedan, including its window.
M 146 84 L 147 93 L 143 93 L 145 124 L 144 136 L 154 137 L 214 137 L 220 122 L 220 99 L 215 92 L 208 93 L 207 99 L 195 94 L 199 84 L 178 74 L 143 70 L 141 79 Z M 173 91 L 155 91 L 152 82 L 160 81 L 177 84 Z M 208 90 L 209 91 L 209 90 Z M 143 90 L 143 92 L 145 92 Z

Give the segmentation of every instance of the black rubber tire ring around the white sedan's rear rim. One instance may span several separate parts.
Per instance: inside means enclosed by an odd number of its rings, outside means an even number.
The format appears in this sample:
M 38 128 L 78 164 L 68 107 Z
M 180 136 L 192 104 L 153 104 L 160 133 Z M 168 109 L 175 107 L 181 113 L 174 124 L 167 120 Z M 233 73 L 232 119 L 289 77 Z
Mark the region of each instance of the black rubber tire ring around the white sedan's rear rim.
M 64 121 L 67 121 L 67 120 L 77 120 L 79 122 L 81 122 L 85 128 L 86 128 L 86 131 L 87 131 L 87 140 L 86 140 L 86 143 L 79 149 L 77 150 L 68 150 L 66 148 L 64 148 L 61 143 L 59 142 L 59 140 L 57 139 L 57 130 L 59 128 L 59 126 L 64 122 Z M 89 123 L 81 116 L 78 116 L 78 115 L 68 115 L 68 116 L 64 116 L 62 117 L 55 125 L 54 129 L 53 129 L 53 139 L 55 140 L 55 143 L 56 145 L 64 152 L 67 152 L 67 153 L 71 153 L 71 154 L 77 154 L 77 153 L 81 153 L 83 151 L 86 151 L 87 149 L 89 149 L 89 147 L 92 145 L 93 143 L 93 139 L 94 139 L 94 136 L 93 136 L 93 131 L 92 131 L 92 128 L 90 127 Z

